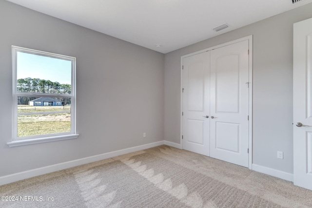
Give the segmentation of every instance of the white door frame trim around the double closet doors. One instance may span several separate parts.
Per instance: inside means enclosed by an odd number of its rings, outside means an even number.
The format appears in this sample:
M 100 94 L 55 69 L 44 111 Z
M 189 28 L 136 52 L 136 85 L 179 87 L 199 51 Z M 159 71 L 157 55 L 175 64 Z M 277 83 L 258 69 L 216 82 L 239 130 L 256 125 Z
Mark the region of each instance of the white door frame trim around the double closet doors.
M 216 46 L 213 46 L 213 47 L 210 47 L 210 48 L 206 48 L 206 49 L 203 49 L 203 50 L 200 50 L 200 51 L 196 51 L 194 53 L 191 53 L 191 54 L 187 54 L 187 55 L 184 55 L 184 56 L 181 56 L 181 86 L 180 86 L 180 97 L 181 97 L 181 100 L 180 100 L 180 144 L 181 144 L 181 148 L 183 149 L 183 142 L 182 142 L 182 135 L 183 135 L 183 117 L 182 117 L 182 111 L 183 111 L 183 92 L 182 92 L 182 89 L 183 89 L 183 69 L 182 69 L 182 66 L 183 66 L 183 58 L 185 57 L 190 57 L 190 56 L 193 56 L 193 55 L 196 55 L 196 54 L 200 54 L 200 53 L 203 53 L 203 52 L 206 52 L 206 51 L 211 51 L 211 50 L 214 50 L 216 48 L 221 48 L 223 46 L 227 46 L 227 45 L 231 45 L 231 44 L 234 44 L 234 43 L 237 43 L 237 42 L 241 42 L 241 41 L 244 41 L 244 40 L 249 40 L 249 58 L 248 58 L 248 73 L 249 73 L 249 103 L 248 103 L 248 106 L 249 106 L 249 126 L 248 126 L 248 148 L 249 148 L 249 156 L 248 156 L 248 168 L 250 170 L 252 170 L 252 164 L 253 164 L 253 35 L 250 35 L 250 36 L 247 36 L 247 37 L 244 37 L 244 38 L 239 38 L 239 39 L 236 39 L 236 40 L 232 40 L 230 42 L 226 42 L 226 43 L 223 43 L 223 44 L 219 44 L 219 45 L 216 45 Z

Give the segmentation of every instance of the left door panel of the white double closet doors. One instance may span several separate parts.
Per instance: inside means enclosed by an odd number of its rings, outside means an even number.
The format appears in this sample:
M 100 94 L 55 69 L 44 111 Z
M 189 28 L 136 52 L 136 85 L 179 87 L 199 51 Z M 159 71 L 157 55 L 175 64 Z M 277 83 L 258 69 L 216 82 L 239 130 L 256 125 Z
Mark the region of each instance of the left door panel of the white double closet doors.
M 183 58 L 183 149 L 209 156 L 209 55 Z

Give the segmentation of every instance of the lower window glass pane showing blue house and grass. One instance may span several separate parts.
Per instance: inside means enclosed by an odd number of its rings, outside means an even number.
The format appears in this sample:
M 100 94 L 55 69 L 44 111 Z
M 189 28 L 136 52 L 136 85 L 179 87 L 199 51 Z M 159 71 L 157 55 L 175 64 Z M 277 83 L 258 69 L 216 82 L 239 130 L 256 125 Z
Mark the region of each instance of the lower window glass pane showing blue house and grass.
M 18 137 L 71 132 L 71 98 L 19 96 L 18 103 Z

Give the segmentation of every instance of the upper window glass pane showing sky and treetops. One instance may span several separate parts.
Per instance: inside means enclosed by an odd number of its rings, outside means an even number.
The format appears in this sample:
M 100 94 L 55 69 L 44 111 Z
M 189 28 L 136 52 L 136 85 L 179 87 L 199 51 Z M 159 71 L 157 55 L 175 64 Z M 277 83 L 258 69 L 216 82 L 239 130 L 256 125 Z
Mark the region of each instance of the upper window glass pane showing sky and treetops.
M 72 62 L 17 52 L 17 92 L 71 94 Z

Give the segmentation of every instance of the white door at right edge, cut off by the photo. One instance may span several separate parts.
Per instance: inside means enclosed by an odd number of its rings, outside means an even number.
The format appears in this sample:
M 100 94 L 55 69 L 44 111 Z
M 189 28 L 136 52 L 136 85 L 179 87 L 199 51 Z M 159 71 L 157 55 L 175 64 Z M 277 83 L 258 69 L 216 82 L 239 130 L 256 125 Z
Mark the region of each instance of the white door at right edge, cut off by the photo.
M 293 25 L 293 183 L 312 189 L 312 19 Z

